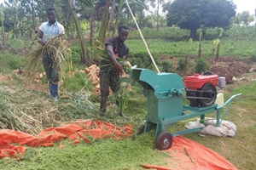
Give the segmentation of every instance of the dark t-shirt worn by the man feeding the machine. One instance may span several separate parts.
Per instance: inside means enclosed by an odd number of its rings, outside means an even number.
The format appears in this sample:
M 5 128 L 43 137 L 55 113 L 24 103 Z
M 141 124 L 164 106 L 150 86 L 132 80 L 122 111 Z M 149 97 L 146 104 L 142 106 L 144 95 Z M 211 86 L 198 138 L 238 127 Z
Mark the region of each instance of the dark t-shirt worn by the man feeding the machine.
M 108 39 L 105 42 L 106 48 L 107 48 L 107 45 L 113 46 L 113 53 L 115 54 L 116 57 L 119 57 L 119 58 L 122 58 L 123 56 L 125 56 L 126 58 L 128 57 L 129 48 L 125 45 L 124 42 L 119 42 L 118 37 L 108 37 Z M 108 58 L 108 56 L 102 56 L 102 57 Z M 102 61 L 100 68 L 102 71 L 105 70 L 106 62 Z

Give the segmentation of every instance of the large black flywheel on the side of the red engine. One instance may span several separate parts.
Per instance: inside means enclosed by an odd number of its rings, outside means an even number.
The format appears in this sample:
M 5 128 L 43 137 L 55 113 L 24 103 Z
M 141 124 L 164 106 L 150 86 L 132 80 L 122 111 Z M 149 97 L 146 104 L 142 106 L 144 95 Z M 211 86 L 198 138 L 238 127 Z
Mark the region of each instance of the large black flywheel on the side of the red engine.
M 199 93 L 200 97 L 211 98 L 211 99 L 200 99 L 201 105 L 204 105 L 204 106 L 213 105 L 217 98 L 217 90 L 215 86 L 212 83 L 206 83 L 201 88 L 201 91 L 204 91 L 204 92 Z M 210 93 L 205 93 L 205 92 L 210 92 Z

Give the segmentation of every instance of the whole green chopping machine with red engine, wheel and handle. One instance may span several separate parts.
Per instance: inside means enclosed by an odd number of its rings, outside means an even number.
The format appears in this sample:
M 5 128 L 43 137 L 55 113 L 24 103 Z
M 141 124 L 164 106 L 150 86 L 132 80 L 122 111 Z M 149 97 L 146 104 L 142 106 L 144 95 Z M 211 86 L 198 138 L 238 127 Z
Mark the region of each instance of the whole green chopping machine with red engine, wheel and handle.
M 143 87 L 143 94 L 148 102 L 148 114 L 145 117 L 143 132 L 156 129 L 155 145 L 159 150 L 171 148 L 173 136 L 202 130 L 202 127 L 199 127 L 173 133 L 166 132 L 174 123 L 195 116 L 200 116 L 200 122 L 204 123 L 205 115 L 216 111 L 217 126 L 219 126 L 229 110 L 231 101 L 241 95 L 233 95 L 224 105 L 215 104 L 218 92 L 225 86 L 225 79 L 214 74 L 195 74 L 186 77 L 183 81 L 183 78 L 176 73 L 155 73 L 148 69 L 135 68 L 132 69 L 130 77 Z M 217 91 L 216 86 L 220 90 Z M 184 98 L 189 99 L 189 105 L 183 105 Z M 224 106 L 227 107 L 220 117 L 220 110 Z

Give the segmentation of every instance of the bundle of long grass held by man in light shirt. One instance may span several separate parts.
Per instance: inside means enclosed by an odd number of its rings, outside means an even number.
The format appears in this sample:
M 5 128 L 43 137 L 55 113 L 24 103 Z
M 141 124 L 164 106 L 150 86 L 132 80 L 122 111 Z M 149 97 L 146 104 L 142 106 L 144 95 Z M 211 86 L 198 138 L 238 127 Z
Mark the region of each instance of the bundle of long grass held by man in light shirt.
M 38 67 L 42 63 L 42 59 L 46 54 L 52 54 L 55 63 L 59 69 L 61 79 L 64 79 L 64 63 L 71 56 L 71 50 L 68 42 L 61 36 L 53 37 L 49 39 L 44 46 L 38 44 L 35 48 L 32 48 L 31 52 L 26 55 L 26 78 L 33 80 L 37 73 Z

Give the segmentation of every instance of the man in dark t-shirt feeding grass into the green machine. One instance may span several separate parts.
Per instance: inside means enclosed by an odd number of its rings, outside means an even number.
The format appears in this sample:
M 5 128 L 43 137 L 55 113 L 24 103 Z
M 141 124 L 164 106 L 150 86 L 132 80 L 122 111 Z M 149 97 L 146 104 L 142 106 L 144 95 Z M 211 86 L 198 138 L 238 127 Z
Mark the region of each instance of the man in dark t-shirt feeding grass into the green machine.
M 114 65 L 113 70 L 106 69 L 105 62 L 101 63 L 100 71 L 100 86 L 101 86 L 101 111 L 106 112 L 107 100 L 109 95 L 109 87 L 113 93 L 116 94 L 119 90 L 120 76 L 123 75 L 123 65 L 121 65 L 117 58 L 127 59 L 129 54 L 129 48 L 125 45 L 125 40 L 129 35 L 128 26 L 119 26 L 118 37 L 109 37 L 105 43 L 108 59 Z M 119 105 L 119 101 L 116 101 Z M 120 104 L 121 105 L 121 104 Z M 121 111 L 119 116 L 125 116 Z

